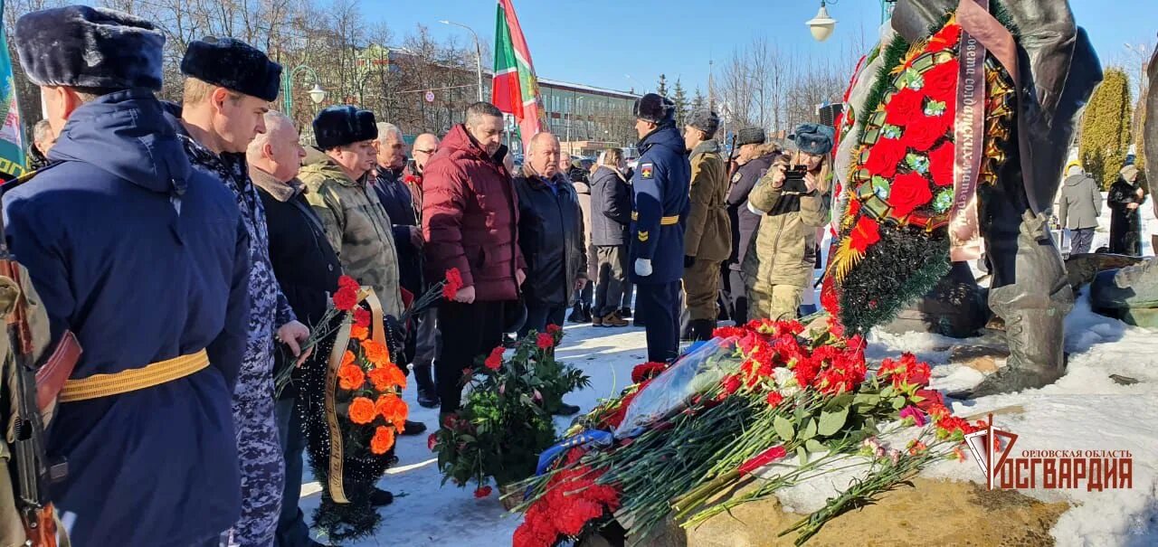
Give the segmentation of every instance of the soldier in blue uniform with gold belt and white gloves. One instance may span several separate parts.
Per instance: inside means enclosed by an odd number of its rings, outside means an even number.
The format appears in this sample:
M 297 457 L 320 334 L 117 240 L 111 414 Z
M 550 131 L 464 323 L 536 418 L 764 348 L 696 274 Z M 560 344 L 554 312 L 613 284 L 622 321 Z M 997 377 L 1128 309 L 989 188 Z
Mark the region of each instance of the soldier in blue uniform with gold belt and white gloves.
M 655 94 L 635 104 L 639 167 L 632 176 L 631 281 L 636 308 L 647 318 L 647 360 L 668 362 L 680 352 L 680 279 L 691 164 L 675 128 L 675 103 Z

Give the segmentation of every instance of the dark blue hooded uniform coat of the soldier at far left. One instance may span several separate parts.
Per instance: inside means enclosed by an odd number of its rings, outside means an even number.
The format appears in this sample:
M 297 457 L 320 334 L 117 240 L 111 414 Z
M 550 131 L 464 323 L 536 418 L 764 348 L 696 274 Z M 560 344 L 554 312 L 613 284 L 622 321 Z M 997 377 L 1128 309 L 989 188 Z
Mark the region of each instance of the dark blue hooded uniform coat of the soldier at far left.
M 6 187 L 7 238 L 72 330 L 73 378 L 208 350 L 211 365 L 155 387 L 65 402 L 50 457 L 73 545 L 188 547 L 241 513 L 233 386 L 245 348 L 249 242 L 233 194 L 190 169 L 147 90 L 73 112 L 53 164 Z

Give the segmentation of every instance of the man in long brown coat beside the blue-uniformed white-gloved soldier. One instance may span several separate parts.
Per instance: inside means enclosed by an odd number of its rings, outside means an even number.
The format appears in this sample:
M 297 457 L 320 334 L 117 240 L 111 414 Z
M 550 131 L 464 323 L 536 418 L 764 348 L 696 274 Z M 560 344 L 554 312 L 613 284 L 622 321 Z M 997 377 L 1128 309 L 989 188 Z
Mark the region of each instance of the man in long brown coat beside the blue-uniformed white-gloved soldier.
M 687 294 L 692 340 L 710 340 L 719 313 L 720 264 L 732 254 L 727 219 L 727 164 L 714 139 L 719 117 L 696 110 L 683 128 L 691 153 L 691 210 L 683 239 L 683 290 Z

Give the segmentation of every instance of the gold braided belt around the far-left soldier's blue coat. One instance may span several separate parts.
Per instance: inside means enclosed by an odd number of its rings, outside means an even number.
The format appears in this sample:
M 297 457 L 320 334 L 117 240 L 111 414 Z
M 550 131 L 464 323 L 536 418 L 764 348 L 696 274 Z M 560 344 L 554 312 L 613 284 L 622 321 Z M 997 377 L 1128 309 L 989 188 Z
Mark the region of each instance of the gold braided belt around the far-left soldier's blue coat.
M 184 378 L 208 365 L 210 356 L 201 349 L 195 354 L 149 363 L 139 369 L 69 379 L 60 390 L 60 402 L 83 401 L 144 390 Z

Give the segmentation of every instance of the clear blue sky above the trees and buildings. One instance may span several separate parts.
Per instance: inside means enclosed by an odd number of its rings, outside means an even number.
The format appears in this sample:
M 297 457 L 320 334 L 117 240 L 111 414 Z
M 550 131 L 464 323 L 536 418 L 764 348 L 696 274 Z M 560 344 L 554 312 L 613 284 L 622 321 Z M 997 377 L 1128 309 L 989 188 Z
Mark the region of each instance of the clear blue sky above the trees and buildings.
M 1070 5 L 1102 65 L 1136 62 L 1124 43 L 1155 43 L 1158 0 L 1071 0 Z M 364 12 L 386 21 L 397 36 L 423 23 L 439 39 L 469 40 L 466 30 L 438 23 L 452 20 L 472 27 L 488 42 L 494 36 L 496 6 L 493 0 L 361 0 Z M 804 22 L 816 14 L 819 0 L 515 0 L 541 77 L 639 91 L 654 90 L 664 73 L 669 82 L 681 77 L 689 93 L 697 86 L 706 91 L 710 59 L 719 64 L 733 47 L 755 37 L 767 37 L 801 58 L 848 56 L 862 31 L 872 42 L 879 6 L 878 0 L 830 3 L 828 12 L 838 21 L 836 32 L 816 43 Z M 484 66 L 492 62 L 483 59 Z

